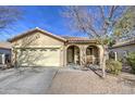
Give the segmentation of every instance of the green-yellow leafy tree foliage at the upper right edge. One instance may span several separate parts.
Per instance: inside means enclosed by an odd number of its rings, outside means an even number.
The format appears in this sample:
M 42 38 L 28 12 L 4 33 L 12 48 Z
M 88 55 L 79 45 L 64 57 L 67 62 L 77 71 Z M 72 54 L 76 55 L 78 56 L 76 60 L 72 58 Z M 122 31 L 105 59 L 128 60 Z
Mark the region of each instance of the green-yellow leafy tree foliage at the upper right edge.
M 115 38 L 122 38 L 127 40 L 128 38 L 133 38 L 135 34 L 135 7 L 127 7 L 126 12 L 119 20 L 114 27 Z

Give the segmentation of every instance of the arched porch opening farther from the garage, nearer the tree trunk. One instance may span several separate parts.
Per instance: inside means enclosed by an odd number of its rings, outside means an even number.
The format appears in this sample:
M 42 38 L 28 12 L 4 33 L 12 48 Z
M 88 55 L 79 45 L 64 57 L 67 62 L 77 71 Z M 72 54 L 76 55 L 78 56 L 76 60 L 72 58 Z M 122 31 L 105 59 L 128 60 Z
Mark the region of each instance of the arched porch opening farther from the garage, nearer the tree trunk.
M 88 46 L 86 48 L 87 64 L 99 64 L 99 48 L 96 46 Z

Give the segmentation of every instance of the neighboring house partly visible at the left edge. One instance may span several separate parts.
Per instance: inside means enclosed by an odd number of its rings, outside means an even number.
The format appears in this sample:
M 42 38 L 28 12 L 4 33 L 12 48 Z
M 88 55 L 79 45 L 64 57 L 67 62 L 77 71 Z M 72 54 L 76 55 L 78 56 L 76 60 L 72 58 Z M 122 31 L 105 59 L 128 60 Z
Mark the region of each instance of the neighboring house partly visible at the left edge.
M 11 49 L 10 42 L 0 42 L 0 65 L 11 62 Z

